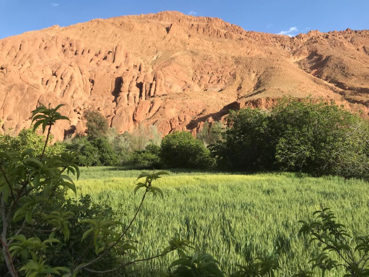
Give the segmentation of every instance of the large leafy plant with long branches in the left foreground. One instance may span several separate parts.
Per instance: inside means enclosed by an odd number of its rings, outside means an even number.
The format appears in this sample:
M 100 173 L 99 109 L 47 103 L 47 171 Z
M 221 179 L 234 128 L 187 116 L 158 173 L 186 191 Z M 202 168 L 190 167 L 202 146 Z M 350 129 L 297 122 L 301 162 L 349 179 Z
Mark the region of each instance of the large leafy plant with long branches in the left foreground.
M 52 126 L 58 120 L 68 120 L 57 110 L 63 105 L 58 105 L 54 109 L 49 106 L 39 106 L 32 111 L 32 123 L 35 122 L 33 130 L 42 126 L 42 132 L 47 130 L 46 140 L 41 153 L 34 154 L 33 149 L 27 149 L 21 153 L 13 151 L 6 144 L 0 145 L 0 202 L 1 202 L 1 260 L 5 261 L 8 273 L 15 277 L 25 274 L 25 276 L 76 276 L 81 270 L 94 273 L 108 273 L 139 261 L 155 259 L 165 254 L 178 250 L 183 253 L 189 242 L 179 238 L 171 241 L 169 248 L 165 252 L 153 257 L 142 259 L 130 259 L 132 252 L 137 252 L 137 247 L 130 239 L 129 231 L 136 219 L 146 195 L 162 195 L 162 191 L 154 187 L 152 182 L 160 175 L 168 174 L 164 171 L 156 173 L 142 173 L 138 179 L 145 178 L 139 182 L 135 189 L 143 188 L 144 194 L 141 203 L 137 208 L 132 220 L 125 225 L 123 222 L 110 219 L 80 220 L 80 225 L 87 223 L 88 228 L 80 238 L 80 243 L 93 236 L 94 252 L 96 258 L 87 263 L 78 264 L 77 257 L 72 257 L 65 266 L 52 266 L 51 259 L 48 259 L 47 251 L 49 247 L 56 249 L 63 247 L 70 239 L 74 230 L 70 229 L 70 220 L 75 216 L 73 212 L 62 211 L 61 209 L 50 210 L 57 196 L 65 194 L 66 189 L 71 189 L 76 194 L 76 187 L 70 174 L 80 176 L 78 164 L 83 164 L 77 156 L 76 151 L 64 152 L 52 157 L 45 157 L 48 147 Z M 123 227 L 123 231 L 118 232 L 118 227 Z M 47 239 L 40 239 L 48 234 Z M 62 238 L 58 239 L 58 238 Z M 87 248 L 88 249 L 88 248 Z M 91 267 L 103 257 L 114 253 L 121 255 L 120 266 L 110 270 L 97 271 Z M 69 265 L 69 266 L 68 266 Z M 72 265 L 72 266 L 70 266 Z

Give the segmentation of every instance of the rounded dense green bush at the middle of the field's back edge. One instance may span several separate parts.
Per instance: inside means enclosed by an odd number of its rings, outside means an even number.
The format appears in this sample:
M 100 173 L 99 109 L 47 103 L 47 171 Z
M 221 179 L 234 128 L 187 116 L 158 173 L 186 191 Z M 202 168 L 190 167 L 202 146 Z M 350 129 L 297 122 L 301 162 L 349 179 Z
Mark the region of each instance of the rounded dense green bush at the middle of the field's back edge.
M 212 165 L 210 151 L 186 131 L 174 131 L 161 143 L 161 158 L 167 167 L 209 168 Z

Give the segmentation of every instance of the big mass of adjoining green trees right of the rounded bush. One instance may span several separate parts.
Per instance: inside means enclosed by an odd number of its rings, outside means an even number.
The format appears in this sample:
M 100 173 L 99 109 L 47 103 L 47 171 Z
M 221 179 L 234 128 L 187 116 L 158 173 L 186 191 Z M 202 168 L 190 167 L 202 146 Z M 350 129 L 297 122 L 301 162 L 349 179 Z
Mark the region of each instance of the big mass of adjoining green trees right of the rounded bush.
M 284 98 L 267 113 L 231 111 L 224 142 L 211 146 L 218 165 L 366 177 L 369 124 L 333 102 Z

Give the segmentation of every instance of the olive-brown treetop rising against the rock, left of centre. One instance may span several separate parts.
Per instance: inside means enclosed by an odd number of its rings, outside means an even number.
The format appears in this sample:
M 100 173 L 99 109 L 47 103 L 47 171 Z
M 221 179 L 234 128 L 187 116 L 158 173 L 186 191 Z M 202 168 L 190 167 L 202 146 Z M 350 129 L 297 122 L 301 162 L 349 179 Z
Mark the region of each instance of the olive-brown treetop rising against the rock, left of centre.
M 104 137 L 109 129 L 106 118 L 97 110 L 87 110 L 83 116 L 86 119 L 87 135 L 92 138 Z

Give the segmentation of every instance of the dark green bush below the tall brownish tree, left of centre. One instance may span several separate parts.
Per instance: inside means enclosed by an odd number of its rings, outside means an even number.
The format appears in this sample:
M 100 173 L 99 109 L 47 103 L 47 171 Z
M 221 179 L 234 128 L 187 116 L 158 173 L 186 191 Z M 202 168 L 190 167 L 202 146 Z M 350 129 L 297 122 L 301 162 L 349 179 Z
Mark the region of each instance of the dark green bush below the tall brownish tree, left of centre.
M 79 159 L 87 166 L 116 165 L 118 158 L 106 138 L 75 137 L 70 144 L 66 144 L 69 150 L 79 151 Z

